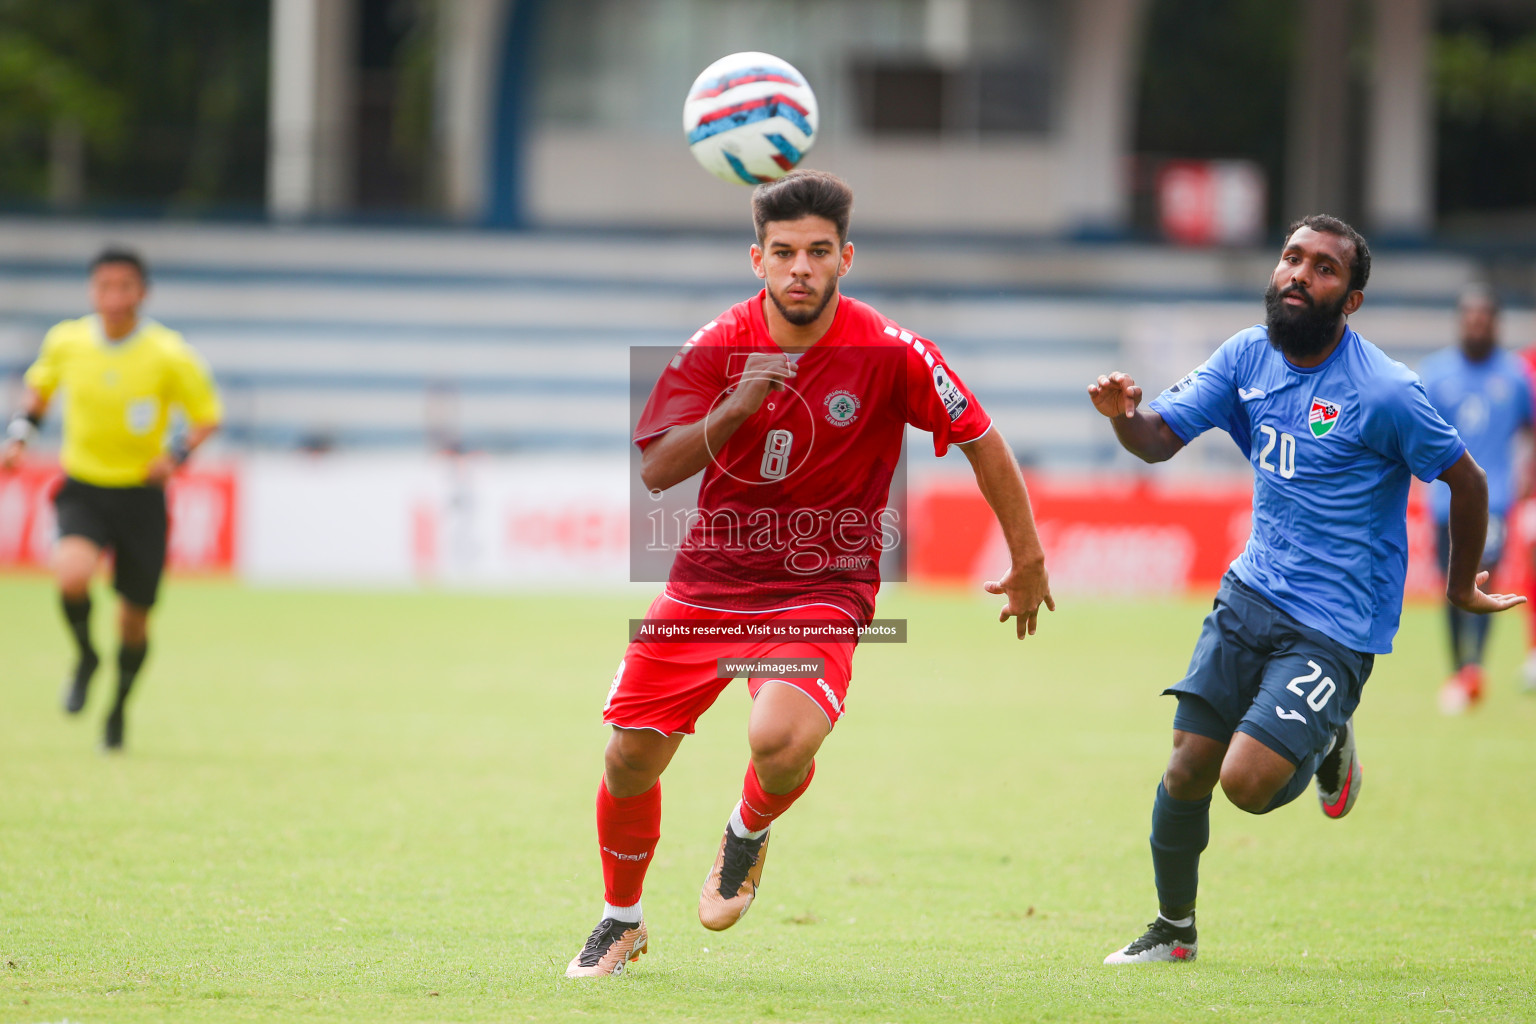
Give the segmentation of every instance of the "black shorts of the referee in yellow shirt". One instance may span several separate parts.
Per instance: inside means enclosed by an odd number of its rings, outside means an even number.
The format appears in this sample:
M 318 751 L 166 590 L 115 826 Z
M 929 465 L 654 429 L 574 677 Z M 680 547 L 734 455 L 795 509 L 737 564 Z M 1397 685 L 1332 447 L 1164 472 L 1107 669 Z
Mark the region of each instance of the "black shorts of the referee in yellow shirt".
M 84 537 L 112 550 L 112 588 L 143 608 L 155 603 L 166 567 L 166 491 L 160 487 L 95 487 L 74 477 L 54 496 L 60 537 Z

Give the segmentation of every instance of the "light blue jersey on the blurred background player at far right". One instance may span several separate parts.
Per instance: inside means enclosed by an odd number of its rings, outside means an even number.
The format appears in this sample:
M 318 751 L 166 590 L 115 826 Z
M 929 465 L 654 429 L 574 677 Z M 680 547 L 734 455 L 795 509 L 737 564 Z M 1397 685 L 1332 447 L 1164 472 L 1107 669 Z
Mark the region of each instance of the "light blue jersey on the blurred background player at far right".
M 1488 474 L 1488 513 L 1504 516 L 1514 504 L 1514 434 L 1531 425 L 1531 385 L 1525 364 L 1495 348 L 1471 362 L 1461 348 L 1441 348 L 1419 367 L 1430 402 L 1456 427 L 1467 451 Z M 1435 522 L 1450 520 L 1450 488 L 1430 484 Z

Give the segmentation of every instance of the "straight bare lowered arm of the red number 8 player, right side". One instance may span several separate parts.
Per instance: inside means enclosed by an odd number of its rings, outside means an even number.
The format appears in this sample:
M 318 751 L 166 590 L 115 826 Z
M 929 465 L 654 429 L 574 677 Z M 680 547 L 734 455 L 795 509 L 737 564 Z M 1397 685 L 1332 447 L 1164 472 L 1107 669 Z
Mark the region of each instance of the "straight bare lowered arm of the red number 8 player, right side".
M 997 620 L 1008 622 L 1012 616 L 1017 620 L 1018 639 L 1023 640 L 1035 633 L 1040 605 L 1055 611 L 1046 573 L 1046 553 L 1040 547 L 1035 514 L 1029 507 L 1029 490 L 1025 487 L 1012 450 L 995 430 L 962 444 L 960 450 L 971 461 L 975 484 L 1003 528 L 1012 562 L 1003 579 L 986 582 L 986 593 L 1008 597 Z

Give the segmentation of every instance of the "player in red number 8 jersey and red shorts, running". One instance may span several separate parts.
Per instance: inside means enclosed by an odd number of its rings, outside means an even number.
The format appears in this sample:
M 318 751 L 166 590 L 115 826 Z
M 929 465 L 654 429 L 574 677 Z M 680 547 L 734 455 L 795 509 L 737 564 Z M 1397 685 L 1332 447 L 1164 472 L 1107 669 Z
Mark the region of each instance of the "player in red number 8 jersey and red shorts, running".
M 1055 605 L 1018 464 L 975 396 L 926 339 L 839 293 L 852 266 L 852 192 L 800 170 L 753 192 L 753 270 L 765 289 L 707 324 L 671 359 L 634 431 L 641 474 L 664 491 L 699 471 L 697 514 L 647 626 L 771 634 L 814 622 L 834 636 L 719 643 L 637 637 L 613 677 L 598 788 L 604 912 L 567 976 L 616 975 L 645 950 L 641 889 L 660 837 L 660 775 L 730 683 L 717 659 L 806 669 L 748 672 L 751 760 L 699 920 L 727 929 L 762 877 L 768 827 L 805 792 L 842 717 L 856 628 L 874 616 L 886 513 L 906 425 L 960 445 L 1001 524 L 1012 565 L 998 620 L 1035 631 Z M 839 633 L 840 631 L 840 633 Z

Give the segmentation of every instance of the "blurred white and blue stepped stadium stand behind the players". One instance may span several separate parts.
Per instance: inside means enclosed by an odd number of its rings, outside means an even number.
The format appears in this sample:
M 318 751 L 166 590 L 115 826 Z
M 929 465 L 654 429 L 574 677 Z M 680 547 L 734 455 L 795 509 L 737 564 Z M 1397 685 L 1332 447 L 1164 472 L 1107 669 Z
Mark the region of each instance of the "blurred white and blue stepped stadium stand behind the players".
M 745 201 L 745 190 L 740 193 Z M 745 218 L 743 218 L 745 220 Z M 104 239 L 140 246 L 149 313 L 184 332 L 226 391 L 235 450 L 624 450 L 628 350 L 674 347 L 757 287 L 750 238 L 166 223 L 0 221 L 0 376 L 84 309 Z M 1273 253 L 856 232 L 851 295 L 931 336 L 1035 467 L 1134 465 L 1083 387 L 1150 388 L 1261 319 Z M 1356 327 L 1410 364 L 1455 338 L 1471 259 L 1384 252 Z M 1510 344 L 1536 335 L 1513 312 Z M 647 382 L 648 385 L 648 382 Z M 1181 461 L 1236 467 L 1230 445 Z

